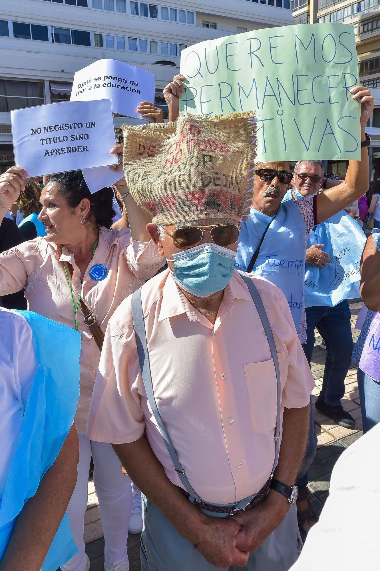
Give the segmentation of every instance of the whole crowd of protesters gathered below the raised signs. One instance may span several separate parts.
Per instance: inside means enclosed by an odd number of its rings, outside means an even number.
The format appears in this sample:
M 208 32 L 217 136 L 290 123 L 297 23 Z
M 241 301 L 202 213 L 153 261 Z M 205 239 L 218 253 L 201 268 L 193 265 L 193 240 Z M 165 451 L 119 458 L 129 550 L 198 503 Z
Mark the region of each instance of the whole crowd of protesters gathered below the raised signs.
M 317 523 L 308 498 L 316 328 L 316 409 L 354 426 L 353 354 L 363 432 L 378 428 L 377 182 L 366 243 L 352 210 L 369 189 L 370 91 L 351 89 L 361 160 L 327 178 L 320 160 L 256 156 L 253 112 L 180 116 L 184 79 L 165 87 L 168 123 L 142 102 L 149 123 L 116 130 L 113 189 L 91 194 L 80 171 L 0 175 L 0 571 L 90 569 L 91 460 L 104 571 L 128 571 L 128 529 L 143 531 L 143 571 L 311 569 L 309 543 L 343 517 Z M 355 347 L 349 291 L 305 297 L 308 268 L 326 273 L 342 246 L 338 223 L 363 250 Z

